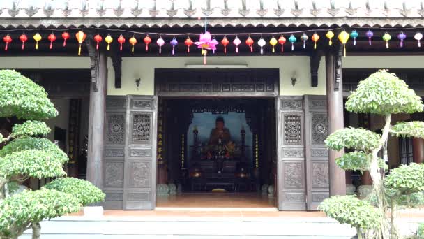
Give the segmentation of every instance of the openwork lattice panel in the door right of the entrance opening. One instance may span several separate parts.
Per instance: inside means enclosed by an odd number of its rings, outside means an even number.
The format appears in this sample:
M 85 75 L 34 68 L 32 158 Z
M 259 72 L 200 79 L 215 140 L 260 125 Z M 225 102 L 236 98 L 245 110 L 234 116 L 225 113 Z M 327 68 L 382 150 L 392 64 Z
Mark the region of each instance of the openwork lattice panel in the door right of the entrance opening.
M 302 144 L 302 115 L 284 116 L 284 143 L 286 145 Z

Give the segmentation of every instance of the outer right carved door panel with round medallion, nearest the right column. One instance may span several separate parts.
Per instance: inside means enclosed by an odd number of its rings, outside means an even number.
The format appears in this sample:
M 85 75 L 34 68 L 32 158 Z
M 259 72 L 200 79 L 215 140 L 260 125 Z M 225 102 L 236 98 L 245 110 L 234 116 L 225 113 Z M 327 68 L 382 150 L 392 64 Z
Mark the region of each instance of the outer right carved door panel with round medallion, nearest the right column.
M 304 108 L 307 209 L 317 210 L 329 193 L 326 96 L 305 96 Z

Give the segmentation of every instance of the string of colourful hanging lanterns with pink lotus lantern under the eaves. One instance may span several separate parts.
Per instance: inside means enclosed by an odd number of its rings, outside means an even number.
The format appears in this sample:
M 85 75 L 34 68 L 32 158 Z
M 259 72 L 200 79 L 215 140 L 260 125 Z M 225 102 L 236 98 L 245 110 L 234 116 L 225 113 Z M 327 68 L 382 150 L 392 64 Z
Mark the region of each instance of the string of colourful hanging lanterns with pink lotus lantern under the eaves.
M 162 38 L 161 34 L 156 34 L 156 35 L 159 36 L 158 39 L 156 40 L 156 44 L 159 47 L 159 54 L 161 54 L 162 53 L 162 46 L 165 45 L 166 43 L 165 43 L 164 39 Z M 171 34 L 164 34 L 164 35 L 171 35 Z M 174 34 L 174 37 L 172 38 L 172 40 L 169 41 L 169 44 L 172 45 L 172 55 L 175 54 L 175 48 L 176 48 L 177 45 L 179 45 L 179 42 L 177 41 L 175 36 L 179 36 L 179 35 L 181 35 L 181 34 Z M 222 34 L 220 34 L 220 35 L 222 35 Z M 230 34 L 230 35 L 232 35 L 232 34 Z M 239 34 L 239 35 L 248 35 L 248 38 L 245 39 L 245 45 L 248 45 L 250 52 L 253 52 L 255 40 L 250 36 L 251 34 Z M 325 36 L 328 39 L 328 45 L 331 46 L 333 44 L 333 38 L 335 37 L 334 32 L 329 30 L 329 31 L 326 32 Z M 343 52 L 344 52 L 343 55 L 344 56 L 346 56 L 346 43 L 347 43 L 347 41 L 349 41 L 349 38 L 352 38 L 353 41 L 354 41 L 354 45 L 356 45 L 356 38 L 358 38 L 358 36 L 359 36 L 359 34 L 358 34 L 358 31 L 356 31 L 356 30 L 352 30 L 350 32 L 350 34 L 347 31 L 345 31 L 345 29 L 342 29 L 342 31 L 340 31 L 340 34 L 338 34 L 337 38 L 338 38 L 338 41 L 340 41 L 340 43 L 342 43 L 342 45 L 343 45 Z M 365 36 L 368 38 L 369 44 L 372 45 L 372 38 L 374 37 L 374 33 L 371 30 L 368 30 L 365 33 Z M 63 47 L 65 47 L 66 41 L 68 41 L 70 39 L 70 34 L 68 33 L 68 31 L 63 31 L 63 33 L 61 34 L 61 38 L 63 39 Z M 303 49 L 306 48 L 307 42 L 309 40 L 311 40 L 314 43 L 314 49 L 315 50 L 317 49 L 317 42 L 320 40 L 320 38 L 321 37 L 319 36 L 319 34 L 316 31 L 312 34 L 312 36 L 310 38 L 306 33 L 301 34 L 301 36 L 299 37 L 300 41 L 302 41 L 302 43 L 303 43 Z M 389 41 L 391 41 L 392 36 L 390 34 L 388 34 L 388 32 L 386 31 L 384 33 L 384 35 L 381 36 L 381 38 L 386 43 L 386 48 L 389 48 Z M 407 35 L 404 34 L 403 31 L 400 31 L 397 38 L 400 41 L 400 48 L 403 48 L 404 41 L 407 38 Z M 86 39 L 86 34 L 84 33 L 84 31 L 80 30 L 80 31 L 77 32 L 77 34 L 75 34 L 75 39 L 77 40 L 77 43 L 79 43 L 78 55 L 81 55 L 81 46 L 82 46 L 82 43 Z M 423 39 L 423 34 L 421 34 L 420 32 L 417 32 L 414 35 L 414 39 L 418 42 L 418 47 L 421 48 L 421 40 Z M 39 33 L 36 33 L 36 34 L 33 35 L 33 40 L 36 41 L 35 48 L 38 49 L 38 43 L 43 40 L 43 36 L 41 36 Z M 50 47 L 49 48 L 52 49 L 54 42 L 56 41 L 56 35 L 54 33 L 50 34 L 49 36 L 47 36 L 47 40 L 50 41 Z M 110 50 L 110 44 L 114 41 L 114 38 L 110 34 L 107 34 L 107 36 L 103 39 L 103 37 L 100 36 L 100 34 L 96 34 L 96 36 L 93 37 L 93 40 L 96 42 L 96 50 L 99 50 L 99 43 L 101 43 L 102 41 L 105 41 L 105 43 L 107 43 L 106 50 Z M 283 52 L 284 51 L 284 45 L 287 42 L 287 40 L 289 41 L 289 43 L 291 43 L 291 49 L 292 49 L 292 51 L 294 51 L 294 43 L 296 43 L 296 41 L 298 41 L 298 38 L 296 38 L 296 36 L 294 36 L 294 34 L 291 34 L 288 39 L 286 39 L 285 36 L 283 36 L 282 34 L 278 39 L 275 38 L 275 36 L 272 36 L 271 40 L 268 43 L 272 47 L 272 52 L 275 52 L 275 45 L 277 45 L 277 44 L 281 45 L 281 52 Z M 6 50 L 6 51 L 8 50 L 12 41 L 13 41 L 13 39 L 9 34 L 7 34 L 6 36 L 3 37 L 3 42 L 6 43 L 4 50 Z M 22 50 L 24 50 L 25 43 L 27 43 L 27 41 L 28 41 L 27 35 L 22 34 L 19 37 L 19 41 L 22 42 Z M 119 50 L 122 51 L 123 50 L 123 44 L 126 43 L 126 41 L 127 41 L 126 37 L 124 37 L 121 34 L 116 39 L 116 41 L 119 43 Z M 144 36 L 144 38 L 142 38 L 142 41 L 145 44 L 146 52 L 149 51 L 149 44 L 152 43 L 152 39 L 149 36 L 149 34 L 146 34 L 146 36 Z M 128 39 L 128 43 L 131 45 L 131 52 L 134 52 L 134 46 L 138 43 L 137 38 L 135 37 L 135 34 L 133 34 Z M 213 53 L 215 53 L 216 45 L 219 45 L 219 44 L 222 44 L 224 46 L 224 54 L 227 54 L 227 45 L 229 45 L 230 41 L 227 38 L 227 36 L 224 35 L 222 37 L 222 40 L 220 42 L 218 42 L 217 39 L 209 33 L 209 31 L 205 31 L 204 33 L 200 34 L 199 41 L 193 42 L 190 39 L 190 36 L 188 36 L 183 43 L 187 47 L 187 52 L 190 52 L 190 46 L 191 45 L 197 45 L 197 48 L 202 49 L 202 55 L 204 55 L 206 57 L 207 50 L 212 50 Z M 232 44 L 235 45 L 235 47 L 236 47 L 236 49 L 235 49 L 236 53 L 239 53 L 239 45 L 241 45 L 241 43 L 242 43 L 241 39 L 239 38 L 238 35 L 236 35 L 234 37 L 234 40 L 232 41 Z M 260 47 L 260 54 L 264 54 L 264 46 L 266 45 L 266 41 L 263 38 L 262 34 L 261 34 L 259 40 L 257 41 L 257 45 L 259 45 L 259 47 Z

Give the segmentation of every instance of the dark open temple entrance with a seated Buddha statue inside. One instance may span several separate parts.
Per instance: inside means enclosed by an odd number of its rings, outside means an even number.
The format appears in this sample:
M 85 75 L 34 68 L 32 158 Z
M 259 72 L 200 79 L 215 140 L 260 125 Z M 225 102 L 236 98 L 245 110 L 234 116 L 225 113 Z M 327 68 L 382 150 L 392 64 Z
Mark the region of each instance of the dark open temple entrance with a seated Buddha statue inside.
M 275 119 L 273 97 L 159 97 L 156 206 L 276 207 Z

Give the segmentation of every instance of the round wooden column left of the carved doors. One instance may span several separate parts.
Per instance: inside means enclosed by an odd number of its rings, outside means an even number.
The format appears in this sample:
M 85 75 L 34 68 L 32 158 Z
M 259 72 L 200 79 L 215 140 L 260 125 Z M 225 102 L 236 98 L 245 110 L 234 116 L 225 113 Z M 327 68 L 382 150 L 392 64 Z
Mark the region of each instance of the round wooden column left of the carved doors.
M 107 56 L 88 45 L 91 58 L 89 105 L 89 152 L 87 180 L 103 188 L 103 158 L 105 157 L 105 102 L 107 92 Z

